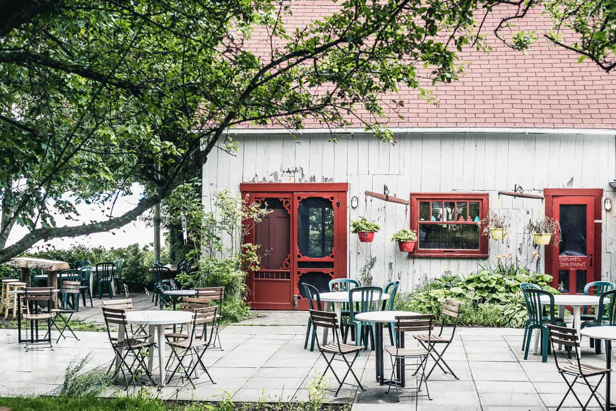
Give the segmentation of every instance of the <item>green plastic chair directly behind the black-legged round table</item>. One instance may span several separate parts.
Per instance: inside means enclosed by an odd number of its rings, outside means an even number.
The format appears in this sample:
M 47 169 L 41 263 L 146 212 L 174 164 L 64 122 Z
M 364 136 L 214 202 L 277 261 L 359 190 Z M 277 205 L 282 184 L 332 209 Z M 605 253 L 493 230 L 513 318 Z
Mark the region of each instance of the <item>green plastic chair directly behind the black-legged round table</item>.
M 357 312 L 349 310 L 349 320 L 344 327 L 344 343 L 347 342 L 349 331 L 353 328 L 352 338 L 355 340 L 355 346 L 363 343 L 364 348 L 368 349 L 368 336 L 370 336 L 371 347 L 375 349 L 375 323 L 357 320 L 355 315 L 359 312 L 380 311 L 382 295 L 381 287 L 357 287 L 349 291 L 349 307 L 355 307 Z

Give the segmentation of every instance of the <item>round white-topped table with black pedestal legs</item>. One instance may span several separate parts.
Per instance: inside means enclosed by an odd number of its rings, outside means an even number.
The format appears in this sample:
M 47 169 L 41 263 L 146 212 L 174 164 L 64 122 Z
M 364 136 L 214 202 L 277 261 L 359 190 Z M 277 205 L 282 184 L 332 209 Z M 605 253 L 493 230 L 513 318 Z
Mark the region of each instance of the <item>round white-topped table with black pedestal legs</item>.
M 418 312 L 410 311 L 369 311 L 355 314 L 355 318 L 361 321 L 376 322 L 375 327 L 375 357 L 376 357 L 376 381 L 380 385 L 389 384 L 390 380 L 385 378 L 384 361 L 383 361 L 383 325 L 395 321 L 395 317 L 402 315 L 419 315 Z M 404 333 L 400 333 L 399 340 L 400 348 L 404 348 Z M 399 387 L 405 385 L 404 359 L 401 358 L 396 367 L 396 380 L 391 383 L 397 384 Z

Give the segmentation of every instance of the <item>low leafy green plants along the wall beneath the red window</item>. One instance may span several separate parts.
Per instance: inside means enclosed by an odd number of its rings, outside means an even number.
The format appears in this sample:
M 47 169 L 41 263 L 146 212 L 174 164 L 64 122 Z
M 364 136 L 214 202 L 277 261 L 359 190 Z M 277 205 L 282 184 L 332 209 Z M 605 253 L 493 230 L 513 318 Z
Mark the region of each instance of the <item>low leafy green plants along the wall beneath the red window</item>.
M 484 266 L 466 277 L 445 272 L 442 277 L 426 281 L 413 293 L 398 295 L 395 309 L 440 316 L 445 299 L 452 298 L 462 303 L 461 325 L 522 327 L 527 314 L 520 283 L 537 284 L 551 293 L 559 293 L 548 285 L 551 275 L 532 272 L 528 265 L 520 266 L 511 261 L 510 255 L 505 255 L 497 256 L 493 266 Z

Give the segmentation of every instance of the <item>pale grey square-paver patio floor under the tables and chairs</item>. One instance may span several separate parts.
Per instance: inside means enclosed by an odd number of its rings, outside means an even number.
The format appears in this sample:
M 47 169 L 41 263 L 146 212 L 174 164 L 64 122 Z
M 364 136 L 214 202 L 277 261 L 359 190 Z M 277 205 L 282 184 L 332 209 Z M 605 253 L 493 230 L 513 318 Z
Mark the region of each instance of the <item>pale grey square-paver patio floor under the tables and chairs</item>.
M 136 309 L 152 307 L 147 296 L 133 296 Z M 79 317 L 102 321 L 99 306 L 88 307 Z M 303 349 L 306 330 L 306 312 L 257 312 L 257 316 L 221 331 L 224 351 L 209 350 L 205 365 L 216 385 L 200 378 L 197 388 L 178 381 L 160 390 L 164 399 L 221 401 L 230 396 L 232 401 L 302 401 L 308 397 L 308 385 L 315 373 L 325 369 L 325 361 L 318 352 Z M 57 334 L 57 333 L 54 333 Z M 110 364 L 113 352 L 107 333 L 79 332 L 81 341 L 62 340 L 54 344 L 54 351 L 25 352 L 17 344 L 16 330 L 0 330 L 0 364 L 3 378 L 0 395 L 48 394 L 59 389 L 63 371 L 76 358 L 91 355 L 89 368 Z M 331 402 L 354 402 L 354 410 L 372 411 L 375 403 L 387 410 L 410 407 L 417 410 L 549 410 L 555 409 L 566 391 L 564 381 L 556 372 L 553 357 L 541 363 L 540 356 L 530 355 L 524 360 L 521 349 L 522 330 L 512 328 L 458 328 L 455 343 L 445 358 L 460 380 L 435 370 L 429 380 L 432 401 L 403 397 L 395 403 L 395 395 L 387 394 L 387 386 L 375 380 L 373 352 L 362 352 L 354 370 L 361 376 L 367 391 L 343 388 Z M 583 340 L 583 360 L 593 365 L 604 365 L 605 356 L 594 354 Z M 168 350 L 169 353 L 169 350 Z M 564 357 L 563 361 L 567 361 Z M 155 361 L 156 365 L 156 361 Z M 344 364 L 341 364 L 344 365 Z M 336 367 L 338 370 L 344 367 Z M 389 375 L 386 357 L 386 375 Z M 329 375 L 331 377 L 331 374 Z M 407 381 L 410 381 L 407 373 Z M 351 381 L 351 379 L 347 380 Z M 334 381 L 335 382 L 335 381 Z M 335 388 L 333 383 L 331 387 Z M 612 390 L 616 388 L 616 383 Z M 601 397 L 604 388 L 601 388 Z M 122 393 L 110 389 L 107 396 Z M 156 393 L 156 390 L 153 390 Z M 580 397 L 588 396 L 585 386 L 578 386 Z M 1 404 L 0 404 L 1 405 Z M 576 409 L 571 396 L 563 409 Z M 591 405 L 596 405 L 591 403 Z M 570 407 L 569 407 L 570 406 Z

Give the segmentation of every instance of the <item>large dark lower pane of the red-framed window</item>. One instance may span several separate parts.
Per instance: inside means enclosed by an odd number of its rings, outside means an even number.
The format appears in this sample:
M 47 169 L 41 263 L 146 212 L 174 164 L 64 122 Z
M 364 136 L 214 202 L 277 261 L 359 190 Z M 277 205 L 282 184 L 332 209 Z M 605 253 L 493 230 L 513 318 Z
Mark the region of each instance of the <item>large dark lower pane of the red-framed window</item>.
M 419 248 L 479 250 L 479 226 L 419 224 Z

